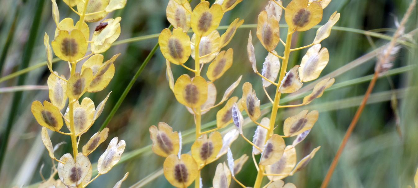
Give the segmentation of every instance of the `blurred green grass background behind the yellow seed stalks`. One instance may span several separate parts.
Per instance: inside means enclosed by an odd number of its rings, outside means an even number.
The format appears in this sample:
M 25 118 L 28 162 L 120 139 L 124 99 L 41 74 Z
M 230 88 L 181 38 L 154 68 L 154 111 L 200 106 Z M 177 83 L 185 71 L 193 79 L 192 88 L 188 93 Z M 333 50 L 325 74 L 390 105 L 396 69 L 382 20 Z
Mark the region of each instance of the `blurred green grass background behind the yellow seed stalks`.
M 41 0 L 2 0 L 0 1 L 0 51 L 4 61 L 0 61 L 1 77 L 18 71 L 25 56 L 24 50 L 28 43 L 34 43 L 29 66 L 35 66 L 45 61 L 45 48 L 43 46 L 43 33 L 50 36 L 55 30 L 55 23 L 51 16 L 51 1 L 45 0 L 41 8 L 41 16 L 36 17 L 36 10 Z M 197 4 L 192 1 L 192 7 Z M 213 3 L 213 0 L 210 0 Z M 290 0 L 283 0 L 287 5 Z M 62 2 L 59 5 L 61 19 L 65 17 L 76 18 L 75 14 Z M 169 23 L 166 20 L 166 5 L 168 0 L 128 0 L 122 10 L 117 10 L 109 15 L 111 18 L 121 16 L 122 33 L 118 40 L 157 34 L 166 28 Z M 221 25 L 228 25 L 235 18 L 245 19 L 244 24 L 257 23 L 257 15 L 265 8 L 268 0 L 243 0 L 234 10 L 224 15 Z M 298 188 L 315 188 L 321 184 L 332 158 L 344 136 L 347 127 L 360 104 L 363 94 L 368 85 L 368 80 L 374 72 L 376 48 L 388 42 L 387 38 L 393 35 L 396 28 L 395 20 L 402 19 L 410 0 L 333 0 L 324 10 L 324 18 L 320 24 L 324 24 L 329 16 L 338 11 L 341 18 L 336 26 L 344 27 L 333 30 L 331 36 L 323 41 L 322 46 L 329 49 L 330 61 L 321 76 L 335 75 L 336 84 L 326 91 L 324 96 L 316 99 L 306 107 L 282 110 L 279 112 L 279 121 L 294 115 L 302 109 L 317 109 L 320 111 L 319 120 L 307 139 L 297 147 L 298 160 L 307 155 L 314 147 L 321 145 L 315 158 L 305 170 L 296 173 L 293 177 L 285 178 L 285 182 L 292 182 Z M 417 9 L 415 8 L 410 20 L 406 25 L 405 32 L 417 28 Z M 39 28 L 33 40 L 30 38 L 30 29 L 33 18 L 39 20 Z M 284 23 L 282 18 L 280 23 Z M 89 24 L 93 28 L 97 23 Z M 372 30 L 380 32 L 383 37 L 371 37 L 353 32 L 353 29 Z M 379 29 L 379 30 L 376 30 Z M 9 34 L 13 32 L 13 38 Z M 260 42 L 255 42 L 255 28 L 251 25 L 240 28 L 227 48 L 234 49 L 234 63 L 231 69 L 218 81 L 215 82 L 218 90 L 218 101 L 224 90 L 232 84 L 240 75 L 243 75 L 241 84 L 234 91 L 233 96 L 241 96 L 242 83 L 249 81 L 257 92 L 261 104 L 268 103 L 268 99 L 262 90 L 261 79 L 252 72 L 246 55 L 246 44 L 249 31 L 252 30 L 255 44 L 258 69 L 261 70 L 263 59 L 267 51 Z M 282 38 L 285 38 L 287 28 L 282 28 Z M 354 30 L 357 31 L 357 30 Z M 222 34 L 224 30 L 219 30 Z M 304 33 L 296 33 L 292 41 L 293 47 L 299 47 L 311 43 L 316 29 Z M 382 76 L 373 91 L 373 94 L 360 118 L 358 126 L 354 130 L 348 145 L 342 155 L 336 171 L 332 177 L 330 188 L 403 188 L 413 185 L 413 175 L 418 167 L 418 97 L 417 97 L 417 59 L 418 51 L 415 48 L 417 37 L 411 33 L 408 37 L 408 46 L 403 46 L 394 61 L 393 71 L 389 76 Z M 389 36 L 389 37 L 388 37 Z M 386 39 L 382 39 L 386 38 Z M 9 40 L 8 40 L 9 39 Z M 10 46 L 6 45 L 9 41 Z M 109 114 L 112 107 L 119 99 L 130 79 L 141 66 L 157 38 L 124 43 L 110 48 L 104 55 L 110 58 L 115 53 L 122 55 L 115 62 L 116 73 L 110 85 L 96 94 L 86 94 L 97 105 L 109 91 L 113 91 L 107 101 L 104 112 L 100 119 L 93 125 L 87 134 L 83 135 L 80 145 L 87 142 Z M 6 48 L 7 47 L 7 48 Z M 6 51 L 7 50 L 7 51 Z M 281 54 L 283 46 L 276 51 Z M 294 52 L 291 55 L 290 65 L 299 64 L 306 49 Z M 186 63 L 193 67 L 191 62 Z M 191 140 L 194 139 L 193 117 L 186 108 L 176 102 L 173 93 L 168 87 L 165 75 L 165 60 L 158 51 L 145 67 L 132 90 L 127 95 L 110 121 L 110 135 L 99 148 L 90 155 L 92 163 L 97 162 L 99 156 L 106 149 L 112 137 L 119 137 L 126 141 L 126 149 L 122 155 L 122 161 L 115 166 L 107 175 L 102 175 L 89 187 L 113 187 L 123 177 L 125 172 L 130 175 L 122 187 L 171 187 L 165 180 L 161 171 L 164 158 L 150 152 L 151 140 L 148 128 L 160 121 L 167 122 L 174 130 L 184 133 L 184 152 L 190 150 Z M 174 77 L 187 72 L 180 66 L 172 65 Z M 60 74 L 68 73 L 68 65 L 64 62 L 54 64 L 54 70 Z M 204 69 L 203 72 L 205 72 Z M 46 85 L 49 71 L 46 66 L 31 70 L 25 74 L 25 85 Z M 366 76 L 366 77 L 363 77 Z M 321 78 L 321 77 L 320 77 Z M 0 187 L 27 186 L 41 181 L 39 169 L 45 164 L 42 174 L 47 178 L 50 174 L 51 160 L 41 142 L 41 126 L 34 120 L 30 105 L 34 100 L 46 100 L 47 90 L 24 91 L 19 104 L 12 104 L 14 92 L 5 92 L 6 87 L 15 86 L 17 77 L 3 79 L 0 82 L 0 135 L 4 137 L 6 125 L 12 106 L 16 106 L 16 119 L 13 122 L 8 150 L 5 155 L 3 168 L 1 169 Z M 393 83 L 391 86 L 391 83 Z M 305 87 L 312 87 L 306 83 Z M 274 96 L 271 88 L 270 95 Z M 308 91 L 308 90 L 306 90 Z M 301 93 L 301 92 L 299 92 Z M 300 96 L 300 95 L 299 95 Z M 303 95 L 302 95 L 303 97 Z M 391 107 L 391 99 L 397 98 L 396 108 Z M 298 95 L 284 96 L 283 101 L 288 104 L 298 104 L 301 98 Z M 291 100 L 292 99 L 292 100 Z M 219 108 L 203 116 L 206 126 L 214 126 L 212 120 L 216 117 Z M 267 107 L 266 110 L 269 108 Z M 395 111 L 399 114 L 395 115 Z M 268 113 L 269 114 L 269 113 Z M 211 123 L 212 122 L 212 123 Z M 222 130 L 225 132 L 228 128 Z M 245 135 L 252 137 L 255 124 L 250 123 L 245 127 Z M 66 142 L 56 152 L 61 156 L 71 152 L 70 138 L 62 135 L 51 135 L 52 142 Z M 286 140 L 290 144 L 293 138 Z M 252 147 L 242 138 L 238 138 L 232 145 L 234 158 L 242 154 L 251 154 Z M 217 162 L 208 165 L 202 171 L 204 188 L 212 185 L 212 178 L 217 163 L 223 162 L 222 157 Z M 257 171 L 250 160 L 245 164 L 237 179 L 247 186 L 252 186 Z M 150 175 L 150 176 L 148 176 Z M 160 176 L 158 176 L 160 175 Z M 147 177 L 148 176 L 148 177 Z M 151 178 L 155 177 L 155 178 Z M 267 178 L 265 178 L 267 179 Z M 149 180 L 150 182 L 148 182 Z M 231 187 L 238 187 L 232 183 Z

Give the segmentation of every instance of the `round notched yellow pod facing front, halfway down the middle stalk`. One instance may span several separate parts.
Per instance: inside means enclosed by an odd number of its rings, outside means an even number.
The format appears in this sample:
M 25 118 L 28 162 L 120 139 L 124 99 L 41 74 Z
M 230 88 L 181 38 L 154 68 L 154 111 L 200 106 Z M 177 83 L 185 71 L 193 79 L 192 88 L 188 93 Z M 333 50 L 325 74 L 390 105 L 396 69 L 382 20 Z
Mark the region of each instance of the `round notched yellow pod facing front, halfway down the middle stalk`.
M 174 84 L 174 96 L 180 104 L 186 107 L 200 107 L 206 102 L 208 94 L 208 86 L 206 80 L 201 76 L 190 76 L 183 74 L 178 77 Z

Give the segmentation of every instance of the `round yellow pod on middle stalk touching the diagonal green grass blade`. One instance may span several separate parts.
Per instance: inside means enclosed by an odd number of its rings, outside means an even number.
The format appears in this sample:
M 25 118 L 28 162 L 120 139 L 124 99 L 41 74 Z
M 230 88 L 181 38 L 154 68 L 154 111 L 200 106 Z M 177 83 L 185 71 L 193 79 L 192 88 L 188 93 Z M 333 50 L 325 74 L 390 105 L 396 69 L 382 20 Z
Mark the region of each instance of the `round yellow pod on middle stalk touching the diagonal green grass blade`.
M 173 34 L 168 28 L 161 31 L 158 37 L 161 53 L 173 64 L 184 64 L 190 56 L 190 38 L 182 28 L 173 29 Z

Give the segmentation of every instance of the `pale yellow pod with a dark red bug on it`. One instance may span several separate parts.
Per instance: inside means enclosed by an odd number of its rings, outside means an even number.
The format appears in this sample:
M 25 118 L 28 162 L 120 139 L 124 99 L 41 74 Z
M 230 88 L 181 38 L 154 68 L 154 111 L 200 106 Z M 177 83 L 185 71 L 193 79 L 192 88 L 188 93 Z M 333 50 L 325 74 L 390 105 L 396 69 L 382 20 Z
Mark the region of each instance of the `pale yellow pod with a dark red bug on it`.
M 102 23 L 107 23 L 107 26 L 101 30 L 93 32 L 91 47 L 92 53 L 103 53 L 112 46 L 112 43 L 120 36 L 120 20 L 122 18 L 117 17 L 115 19 L 106 19 Z

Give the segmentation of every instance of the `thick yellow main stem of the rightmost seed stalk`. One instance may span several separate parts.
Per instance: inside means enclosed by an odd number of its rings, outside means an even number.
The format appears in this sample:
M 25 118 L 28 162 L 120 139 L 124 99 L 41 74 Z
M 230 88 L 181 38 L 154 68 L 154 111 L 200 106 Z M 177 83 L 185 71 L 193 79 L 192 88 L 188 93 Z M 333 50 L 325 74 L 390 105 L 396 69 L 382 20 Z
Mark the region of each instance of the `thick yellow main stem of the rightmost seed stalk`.
M 284 55 L 283 55 L 283 63 L 282 63 L 282 67 L 280 69 L 280 76 L 279 76 L 279 84 L 276 85 L 276 94 L 274 97 L 274 102 L 273 102 L 273 107 L 271 110 L 271 116 L 270 116 L 270 124 L 269 124 L 269 129 L 267 131 L 267 136 L 265 138 L 265 143 L 267 143 L 267 141 L 270 139 L 271 136 L 273 136 L 273 130 L 274 130 L 274 124 L 276 122 L 276 116 L 277 116 L 277 111 L 278 111 L 278 107 L 279 107 L 279 102 L 280 102 L 280 97 L 281 97 L 281 93 L 279 92 L 280 89 L 280 83 L 282 82 L 285 74 L 286 74 L 286 69 L 288 66 L 288 61 L 289 61 L 289 55 L 290 55 L 290 47 L 291 47 L 291 41 L 292 41 L 292 36 L 293 36 L 294 31 L 289 28 L 288 29 L 288 34 L 287 34 L 287 38 L 286 38 L 286 45 L 285 45 L 285 51 L 284 51 Z M 259 170 L 257 173 L 257 178 L 255 179 L 255 183 L 254 183 L 254 187 L 253 188 L 260 188 L 261 187 L 261 183 L 263 181 L 264 178 L 264 170 L 265 170 L 265 166 L 264 165 L 259 165 Z

